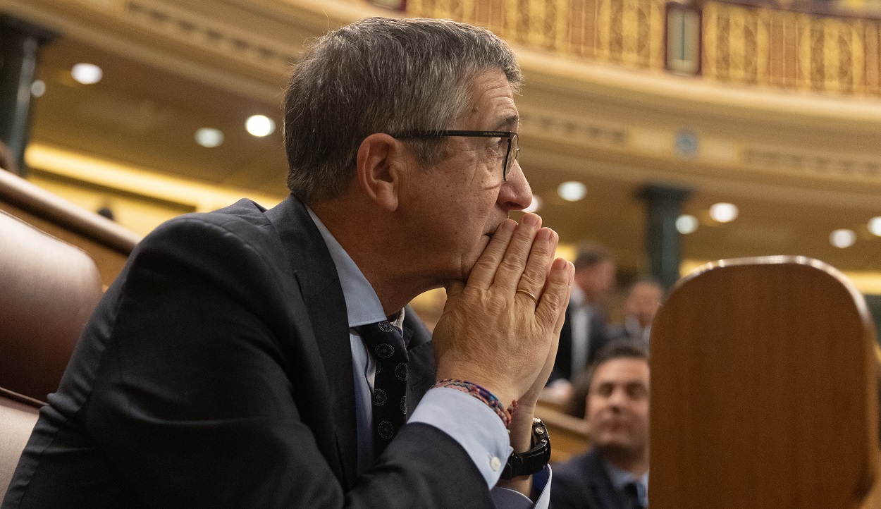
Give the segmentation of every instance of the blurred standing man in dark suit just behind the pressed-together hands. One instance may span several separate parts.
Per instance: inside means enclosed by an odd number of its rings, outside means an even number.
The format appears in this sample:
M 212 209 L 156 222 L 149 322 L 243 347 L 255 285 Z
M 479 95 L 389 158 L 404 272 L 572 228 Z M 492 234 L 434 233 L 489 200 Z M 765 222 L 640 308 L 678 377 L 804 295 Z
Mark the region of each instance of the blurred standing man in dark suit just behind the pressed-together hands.
M 571 394 L 569 382 L 578 379 L 608 341 L 603 306 L 615 283 L 615 258 L 602 244 L 582 243 L 574 265 L 575 284 L 550 378 L 553 394 L 563 401 Z

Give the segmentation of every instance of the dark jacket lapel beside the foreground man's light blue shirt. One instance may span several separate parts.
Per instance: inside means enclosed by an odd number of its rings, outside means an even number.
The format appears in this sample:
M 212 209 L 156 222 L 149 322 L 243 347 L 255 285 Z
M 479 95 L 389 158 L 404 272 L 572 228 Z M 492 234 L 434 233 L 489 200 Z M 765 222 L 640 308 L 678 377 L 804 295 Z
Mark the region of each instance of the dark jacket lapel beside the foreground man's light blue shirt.
M 299 200 L 288 196 L 266 215 L 285 246 L 307 306 L 332 396 L 330 407 L 343 466 L 340 481 L 351 488 L 357 476 L 358 432 L 349 319 L 337 268 L 321 232 Z

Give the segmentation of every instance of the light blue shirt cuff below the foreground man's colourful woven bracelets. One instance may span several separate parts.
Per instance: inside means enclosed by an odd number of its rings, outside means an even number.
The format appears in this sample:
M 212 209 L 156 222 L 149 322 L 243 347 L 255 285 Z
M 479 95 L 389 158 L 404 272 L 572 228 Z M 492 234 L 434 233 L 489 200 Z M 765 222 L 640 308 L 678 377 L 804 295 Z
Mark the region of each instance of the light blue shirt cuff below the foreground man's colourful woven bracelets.
M 410 423 L 431 424 L 447 433 L 474 461 L 489 488 L 499 482 L 510 446 L 505 424 L 478 398 L 449 387 L 434 387 L 419 402 Z

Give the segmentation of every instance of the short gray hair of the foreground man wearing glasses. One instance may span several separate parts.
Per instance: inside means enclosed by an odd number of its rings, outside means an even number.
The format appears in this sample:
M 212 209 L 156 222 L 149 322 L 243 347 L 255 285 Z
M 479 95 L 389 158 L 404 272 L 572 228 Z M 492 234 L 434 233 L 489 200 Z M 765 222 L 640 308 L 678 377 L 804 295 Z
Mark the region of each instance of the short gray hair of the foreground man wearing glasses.
M 327 33 L 285 92 L 287 187 L 305 203 L 342 194 L 366 136 L 448 129 L 471 106 L 473 77 L 493 69 L 519 90 L 511 48 L 455 21 L 366 18 Z M 426 167 L 446 146 L 433 138 L 406 141 Z

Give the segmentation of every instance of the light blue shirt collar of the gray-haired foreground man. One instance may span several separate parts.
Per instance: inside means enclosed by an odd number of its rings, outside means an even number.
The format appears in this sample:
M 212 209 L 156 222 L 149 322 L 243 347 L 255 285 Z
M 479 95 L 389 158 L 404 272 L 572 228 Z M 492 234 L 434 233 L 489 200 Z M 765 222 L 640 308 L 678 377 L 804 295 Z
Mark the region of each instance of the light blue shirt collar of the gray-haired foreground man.
M 315 212 L 306 207 L 309 217 L 315 223 L 318 231 L 322 234 L 324 243 L 327 244 L 330 257 L 333 258 L 334 265 L 337 266 L 337 276 L 339 284 L 343 287 L 343 297 L 345 299 L 346 313 L 349 315 L 349 328 L 365 325 L 366 323 L 375 323 L 377 321 L 389 320 L 385 312 L 382 310 L 382 303 L 377 297 L 374 287 L 370 285 L 361 269 L 352 257 L 345 252 L 339 245 L 337 239 L 329 232 L 327 226 L 322 220 L 315 215 Z M 392 321 L 393 325 L 401 328 L 403 324 L 403 309 Z

